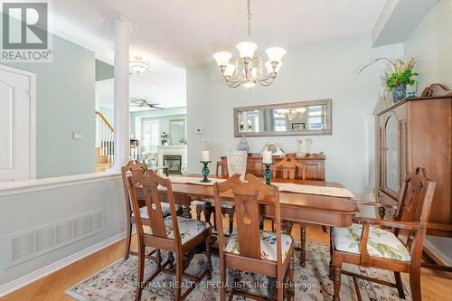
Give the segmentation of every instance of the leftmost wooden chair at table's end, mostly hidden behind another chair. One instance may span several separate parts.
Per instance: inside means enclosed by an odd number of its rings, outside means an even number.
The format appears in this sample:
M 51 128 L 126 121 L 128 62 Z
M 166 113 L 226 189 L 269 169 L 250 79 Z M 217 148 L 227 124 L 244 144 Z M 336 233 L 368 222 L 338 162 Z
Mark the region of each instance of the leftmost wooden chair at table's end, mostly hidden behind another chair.
M 126 249 L 124 252 L 124 259 L 128 259 L 129 255 L 137 255 L 137 252 L 130 250 L 130 242 L 132 240 L 132 226 L 137 223 L 136 214 L 132 208 L 131 190 L 132 187 L 128 183 L 128 178 L 132 173 L 145 173 L 147 170 L 147 165 L 141 163 L 140 161 L 130 160 L 127 165 L 121 167 L 122 185 L 124 190 L 124 200 L 126 202 L 126 217 L 127 217 L 127 236 L 126 236 Z M 170 215 L 170 208 L 167 203 L 162 204 L 164 217 Z M 141 213 L 141 218 L 143 224 L 149 225 L 149 216 L 147 215 L 146 206 L 140 204 L 139 211 Z

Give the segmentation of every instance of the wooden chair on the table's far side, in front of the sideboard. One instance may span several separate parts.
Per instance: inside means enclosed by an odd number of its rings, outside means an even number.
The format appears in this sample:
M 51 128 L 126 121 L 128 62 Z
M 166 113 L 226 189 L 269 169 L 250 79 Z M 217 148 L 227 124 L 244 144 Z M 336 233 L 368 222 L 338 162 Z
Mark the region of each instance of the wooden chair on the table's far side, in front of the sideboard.
M 287 179 L 287 180 L 295 180 L 298 171 L 301 170 L 302 177 L 301 179 L 305 179 L 305 165 L 301 162 L 298 162 L 294 158 L 285 158 L 275 165 L 273 165 L 273 176 L 275 178 Z M 278 173 L 279 172 L 279 173 Z M 291 235 L 292 232 L 292 221 L 282 221 L 284 224 L 284 228 L 286 230 L 286 234 Z M 306 267 L 306 223 L 300 222 L 300 266 Z

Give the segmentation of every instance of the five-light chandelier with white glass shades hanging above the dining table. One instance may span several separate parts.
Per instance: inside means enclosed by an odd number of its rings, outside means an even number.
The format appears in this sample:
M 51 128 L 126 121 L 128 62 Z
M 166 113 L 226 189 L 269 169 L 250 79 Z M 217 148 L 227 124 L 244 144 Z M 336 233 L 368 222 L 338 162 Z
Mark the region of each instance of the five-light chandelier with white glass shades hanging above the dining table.
M 270 47 L 265 52 L 268 55 L 268 61 L 265 63 L 255 56 L 254 52 L 258 45 L 251 41 L 251 0 L 248 0 L 248 40 L 239 42 L 236 46 L 240 53 L 240 58 L 235 63 L 230 63 L 231 52 L 216 52 L 213 58 L 217 62 L 218 68 L 226 82 L 231 88 L 237 88 L 240 85 L 251 89 L 259 82 L 262 86 L 271 85 L 282 66 L 282 57 L 286 50 L 280 47 Z M 267 69 L 267 72 L 264 71 Z

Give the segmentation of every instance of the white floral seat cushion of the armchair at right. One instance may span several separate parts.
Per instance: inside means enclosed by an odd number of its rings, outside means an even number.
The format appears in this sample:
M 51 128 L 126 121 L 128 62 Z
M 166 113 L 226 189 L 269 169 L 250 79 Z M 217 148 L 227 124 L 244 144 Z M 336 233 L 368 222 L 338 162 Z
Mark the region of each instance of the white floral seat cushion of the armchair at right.
M 363 225 L 353 224 L 348 228 L 333 228 L 335 249 L 343 252 L 360 254 L 360 241 Z M 389 230 L 371 226 L 367 250 L 370 256 L 384 259 L 410 261 L 409 250 Z

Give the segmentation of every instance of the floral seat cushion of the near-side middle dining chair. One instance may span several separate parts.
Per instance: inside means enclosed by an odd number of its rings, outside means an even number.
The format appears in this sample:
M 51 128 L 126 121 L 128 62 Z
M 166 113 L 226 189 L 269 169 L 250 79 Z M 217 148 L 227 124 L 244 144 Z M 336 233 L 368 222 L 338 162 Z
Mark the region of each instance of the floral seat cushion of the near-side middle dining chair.
M 286 259 L 287 253 L 294 240 L 290 235 L 281 234 L 282 259 Z M 239 237 L 237 229 L 232 231 L 228 240 L 226 252 L 240 254 Z M 277 261 L 277 234 L 276 232 L 260 230 L 260 257 L 261 259 Z

